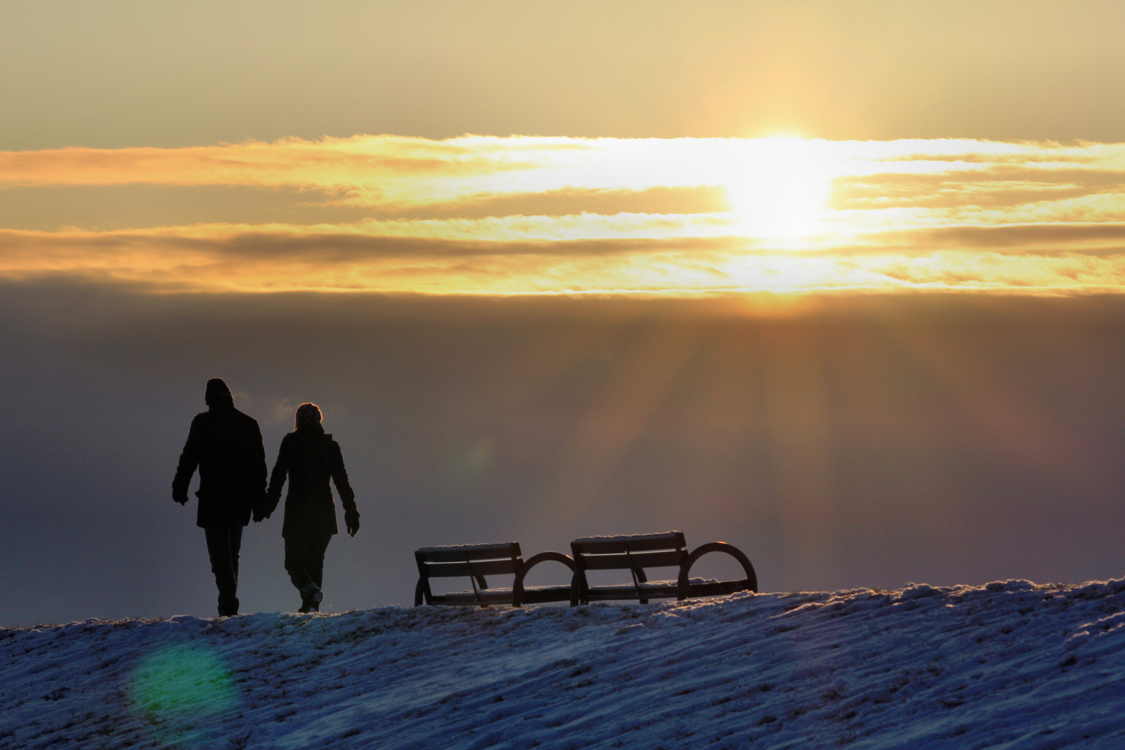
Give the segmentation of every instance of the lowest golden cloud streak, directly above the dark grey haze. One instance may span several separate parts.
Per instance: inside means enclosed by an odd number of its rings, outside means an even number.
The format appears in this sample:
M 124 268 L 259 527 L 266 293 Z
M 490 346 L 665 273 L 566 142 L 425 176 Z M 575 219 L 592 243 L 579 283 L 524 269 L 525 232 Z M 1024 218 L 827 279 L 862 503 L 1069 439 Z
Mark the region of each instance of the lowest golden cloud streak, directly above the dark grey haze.
M 1045 229 L 1045 235 L 1035 231 Z M 1096 229 L 1096 232 L 1090 232 Z M 962 241 L 957 232 L 964 233 Z M 993 233 L 1012 236 L 997 242 Z M 1076 251 L 1077 238 L 1102 243 Z M 210 226 L 0 232 L 0 277 L 65 274 L 154 291 L 424 293 L 1125 290 L 1125 227 L 920 229 L 914 241 L 794 252 L 738 236 L 485 241 Z M 926 236 L 928 235 L 928 236 Z M 983 237 L 984 242 L 980 242 Z M 976 240 L 969 244 L 964 240 Z M 1047 245 L 1053 249 L 1044 250 Z M 955 247 L 950 249 L 950 247 Z M 1038 247 L 1038 249 L 1037 249 Z

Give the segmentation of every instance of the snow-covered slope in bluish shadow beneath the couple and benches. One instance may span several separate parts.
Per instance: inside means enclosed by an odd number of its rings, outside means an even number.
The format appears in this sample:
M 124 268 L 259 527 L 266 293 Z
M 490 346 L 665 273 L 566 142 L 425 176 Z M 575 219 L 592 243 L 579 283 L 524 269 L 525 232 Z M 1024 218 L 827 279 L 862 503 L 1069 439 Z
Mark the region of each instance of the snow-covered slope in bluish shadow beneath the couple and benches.
M 0 630 L 0 748 L 1125 748 L 1125 580 Z

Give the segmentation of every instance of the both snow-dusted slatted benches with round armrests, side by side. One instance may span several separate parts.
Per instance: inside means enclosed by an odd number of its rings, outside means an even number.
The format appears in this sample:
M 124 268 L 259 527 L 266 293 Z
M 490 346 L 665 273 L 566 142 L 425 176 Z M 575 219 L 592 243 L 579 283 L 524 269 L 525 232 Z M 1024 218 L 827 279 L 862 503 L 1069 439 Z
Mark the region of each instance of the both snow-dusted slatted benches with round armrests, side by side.
M 684 600 L 699 596 L 722 596 L 735 591 L 757 591 L 758 578 L 754 566 L 740 550 L 724 542 L 711 542 L 687 551 L 683 532 L 633 534 L 626 536 L 585 536 L 570 542 L 573 557 L 561 552 L 540 552 L 523 560 L 519 542 L 507 544 L 467 544 L 462 546 L 424 546 L 414 552 L 418 582 L 414 589 L 414 606 L 446 604 L 488 606 L 569 602 L 570 606 L 610 599 L 672 598 Z M 746 578 L 738 580 L 692 579 L 695 561 L 710 552 L 723 552 L 742 566 Z M 524 586 L 528 571 L 540 562 L 560 562 L 572 571 L 568 586 Z M 678 568 L 675 580 L 650 581 L 647 568 Z M 628 570 L 631 581 L 608 586 L 591 586 L 587 570 Z M 485 576 L 515 576 L 511 588 L 488 588 Z M 471 590 L 434 594 L 433 578 L 467 577 Z

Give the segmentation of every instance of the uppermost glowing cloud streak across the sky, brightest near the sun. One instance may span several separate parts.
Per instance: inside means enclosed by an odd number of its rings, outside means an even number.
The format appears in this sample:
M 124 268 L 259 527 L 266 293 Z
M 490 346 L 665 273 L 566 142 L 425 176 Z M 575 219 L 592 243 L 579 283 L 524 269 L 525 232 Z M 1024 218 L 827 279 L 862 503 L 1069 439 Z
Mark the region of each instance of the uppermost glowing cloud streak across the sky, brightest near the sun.
M 1030 190 L 1076 175 L 1119 184 L 1125 182 L 1125 145 L 361 135 L 188 148 L 0 152 L 0 186 L 286 186 L 382 208 L 575 189 L 726 186 L 748 173 L 774 172 L 857 182 L 857 192 L 865 188 L 900 200 L 903 187 L 908 193 L 925 192 L 943 178 L 957 184 L 1008 183 L 1001 189 L 1016 182 Z M 910 177 L 921 183 L 904 184 Z

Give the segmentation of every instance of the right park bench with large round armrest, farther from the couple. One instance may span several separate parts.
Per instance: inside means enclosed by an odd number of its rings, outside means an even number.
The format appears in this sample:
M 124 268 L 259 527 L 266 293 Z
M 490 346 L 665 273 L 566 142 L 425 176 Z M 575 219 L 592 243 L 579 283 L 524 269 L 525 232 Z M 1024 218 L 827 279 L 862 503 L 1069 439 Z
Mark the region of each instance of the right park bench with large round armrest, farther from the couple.
M 735 591 L 757 591 L 758 577 L 749 559 L 724 542 L 711 542 L 687 552 L 684 533 L 626 536 L 585 536 L 570 542 L 574 553 L 574 578 L 570 581 L 570 606 L 606 599 L 649 599 L 676 597 L 678 600 L 698 596 L 722 596 Z M 724 552 L 741 563 L 746 578 L 740 580 L 692 579 L 692 566 L 709 552 Z M 676 580 L 649 581 L 646 568 L 678 568 Z M 591 586 L 587 570 L 629 570 L 631 584 Z

